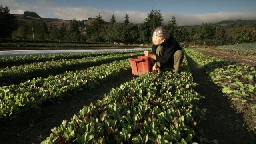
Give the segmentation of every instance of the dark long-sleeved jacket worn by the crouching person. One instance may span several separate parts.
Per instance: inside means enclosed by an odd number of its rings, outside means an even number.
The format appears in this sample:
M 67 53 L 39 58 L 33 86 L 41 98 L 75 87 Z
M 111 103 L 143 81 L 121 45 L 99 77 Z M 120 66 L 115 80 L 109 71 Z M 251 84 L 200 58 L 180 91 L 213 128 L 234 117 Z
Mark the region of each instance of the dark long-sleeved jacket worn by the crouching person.
M 177 40 L 172 35 L 170 35 L 170 37 L 168 39 L 166 39 L 165 43 L 162 45 L 164 47 L 164 56 L 158 56 L 156 54 L 156 48 L 158 46 L 159 45 L 152 46 L 152 53 L 154 55 L 156 55 L 156 61 L 160 62 L 160 63 L 171 62 L 174 53 L 177 50 L 182 50 L 180 48 L 180 44 L 177 42 Z

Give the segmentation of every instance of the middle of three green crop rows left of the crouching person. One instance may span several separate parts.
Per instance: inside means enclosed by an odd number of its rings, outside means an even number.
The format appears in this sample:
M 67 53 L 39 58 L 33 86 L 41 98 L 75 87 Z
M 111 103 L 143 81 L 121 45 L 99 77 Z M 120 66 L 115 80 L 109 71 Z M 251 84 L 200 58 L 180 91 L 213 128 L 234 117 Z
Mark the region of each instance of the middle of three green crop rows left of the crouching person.
M 128 54 L 112 54 L 107 56 L 86 57 L 82 59 L 55 60 L 38 62 L 20 66 L 12 66 L 0 69 L 0 85 L 18 84 L 25 80 L 37 77 L 60 74 L 65 71 L 85 69 L 90 66 L 97 66 L 114 60 L 123 60 L 142 55 L 142 52 Z M 4 84 L 3 84 L 4 83 Z

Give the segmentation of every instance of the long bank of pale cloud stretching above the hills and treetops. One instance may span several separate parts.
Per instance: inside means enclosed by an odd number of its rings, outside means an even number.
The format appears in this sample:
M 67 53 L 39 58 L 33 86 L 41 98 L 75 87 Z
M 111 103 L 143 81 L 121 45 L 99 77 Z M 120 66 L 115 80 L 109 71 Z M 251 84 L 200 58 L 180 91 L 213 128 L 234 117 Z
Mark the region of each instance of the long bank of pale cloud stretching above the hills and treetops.
M 126 13 L 129 14 L 130 22 L 141 23 L 144 18 L 147 17 L 149 12 L 139 12 L 139 11 L 111 11 L 111 10 L 98 10 L 89 7 L 58 7 L 53 4 L 52 0 L 40 0 L 36 1 L 37 5 L 32 5 L 30 3 L 17 3 L 14 0 L 0 0 L 2 6 L 8 6 L 11 13 L 23 14 L 24 11 L 34 11 L 40 16 L 44 17 L 45 14 L 52 15 L 52 18 L 60 18 L 65 20 L 70 20 L 76 18 L 76 20 L 87 19 L 89 17 L 95 18 L 98 13 L 102 16 L 105 21 L 109 21 L 111 15 L 114 13 L 117 21 L 123 21 Z M 164 22 L 172 17 L 173 13 L 162 12 L 164 17 Z M 256 20 L 256 13 L 208 13 L 208 14 L 175 14 L 178 25 L 200 25 L 202 22 L 219 22 L 222 20 Z

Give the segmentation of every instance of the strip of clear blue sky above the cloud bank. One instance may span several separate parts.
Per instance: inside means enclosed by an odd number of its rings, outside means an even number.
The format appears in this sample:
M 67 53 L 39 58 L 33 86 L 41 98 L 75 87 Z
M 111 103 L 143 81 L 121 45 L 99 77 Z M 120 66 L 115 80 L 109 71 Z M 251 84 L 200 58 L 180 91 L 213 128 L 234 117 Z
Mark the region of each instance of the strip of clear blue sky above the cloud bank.
M 22 0 L 21 0 L 22 1 Z M 88 6 L 97 9 L 205 14 L 216 12 L 256 12 L 256 0 L 53 0 L 61 6 Z

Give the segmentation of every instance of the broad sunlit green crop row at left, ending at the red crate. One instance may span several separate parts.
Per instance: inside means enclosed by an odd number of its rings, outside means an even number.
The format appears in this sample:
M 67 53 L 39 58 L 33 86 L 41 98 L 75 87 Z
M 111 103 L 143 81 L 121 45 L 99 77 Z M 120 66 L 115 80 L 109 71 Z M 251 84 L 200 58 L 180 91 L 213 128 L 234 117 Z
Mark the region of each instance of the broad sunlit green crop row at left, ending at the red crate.
M 86 70 L 65 72 L 48 78 L 34 78 L 19 85 L 0 87 L 0 118 L 37 108 L 43 102 L 75 94 L 91 88 L 102 80 L 130 69 L 128 60 L 90 67 Z

